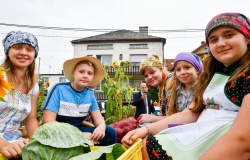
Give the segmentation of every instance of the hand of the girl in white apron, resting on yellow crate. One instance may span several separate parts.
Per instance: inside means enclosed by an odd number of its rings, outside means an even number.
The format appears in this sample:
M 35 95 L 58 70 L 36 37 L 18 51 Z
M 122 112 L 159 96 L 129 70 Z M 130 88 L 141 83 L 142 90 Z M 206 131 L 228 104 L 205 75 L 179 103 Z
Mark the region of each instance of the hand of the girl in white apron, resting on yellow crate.
M 148 129 L 147 127 L 142 127 L 139 129 L 135 129 L 132 131 L 129 131 L 123 138 L 122 138 L 122 144 L 129 148 L 137 138 L 145 138 L 148 135 Z

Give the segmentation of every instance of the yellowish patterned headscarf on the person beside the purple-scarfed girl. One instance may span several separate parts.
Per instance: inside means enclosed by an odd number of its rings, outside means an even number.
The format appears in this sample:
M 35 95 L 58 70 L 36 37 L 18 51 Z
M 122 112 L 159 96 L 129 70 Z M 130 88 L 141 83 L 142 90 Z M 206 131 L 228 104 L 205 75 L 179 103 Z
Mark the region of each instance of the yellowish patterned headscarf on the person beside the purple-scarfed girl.
M 162 62 L 159 60 L 158 55 L 152 55 L 149 58 L 143 59 L 140 63 L 140 72 L 143 75 L 146 67 L 156 67 L 163 69 Z

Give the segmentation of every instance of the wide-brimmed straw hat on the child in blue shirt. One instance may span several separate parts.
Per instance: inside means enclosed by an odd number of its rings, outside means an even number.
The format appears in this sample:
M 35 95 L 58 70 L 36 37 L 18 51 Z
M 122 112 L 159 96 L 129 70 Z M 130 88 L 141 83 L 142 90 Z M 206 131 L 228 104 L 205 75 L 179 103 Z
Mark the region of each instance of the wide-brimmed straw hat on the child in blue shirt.
M 95 85 L 99 84 L 104 77 L 105 70 L 104 70 L 102 64 L 100 63 L 100 61 L 92 56 L 73 58 L 73 59 L 65 61 L 63 64 L 63 73 L 64 73 L 65 77 L 69 81 L 73 81 L 74 80 L 73 70 L 75 68 L 75 65 L 78 64 L 79 62 L 82 62 L 82 61 L 83 62 L 91 62 L 93 64 L 93 67 L 95 68 L 94 79 L 93 79 L 92 83 L 90 84 L 90 86 L 95 86 Z

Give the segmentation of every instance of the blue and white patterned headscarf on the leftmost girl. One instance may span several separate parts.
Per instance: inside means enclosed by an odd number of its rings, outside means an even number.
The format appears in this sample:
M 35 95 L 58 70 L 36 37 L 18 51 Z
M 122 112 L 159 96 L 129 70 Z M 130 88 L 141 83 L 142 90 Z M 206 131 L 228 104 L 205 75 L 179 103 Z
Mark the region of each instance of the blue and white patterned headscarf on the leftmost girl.
M 21 43 L 28 44 L 34 47 L 36 51 L 35 58 L 37 57 L 39 48 L 36 37 L 31 33 L 22 31 L 11 31 L 3 39 L 5 55 L 7 54 L 10 47 L 12 47 L 15 44 L 21 44 Z

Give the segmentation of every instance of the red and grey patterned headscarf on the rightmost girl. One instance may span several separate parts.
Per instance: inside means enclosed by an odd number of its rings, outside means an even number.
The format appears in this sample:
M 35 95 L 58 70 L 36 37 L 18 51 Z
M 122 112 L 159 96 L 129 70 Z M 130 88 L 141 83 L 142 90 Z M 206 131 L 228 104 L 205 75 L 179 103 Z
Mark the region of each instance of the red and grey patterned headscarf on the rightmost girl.
M 206 43 L 211 31 L 217 27 L 231 27 L 240 31 L 247 39 L 250 39 L 250 20 L 240 13 L 222 13 L 212 18 L 205 29 Z

